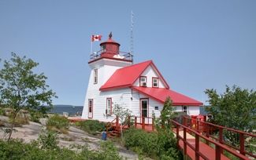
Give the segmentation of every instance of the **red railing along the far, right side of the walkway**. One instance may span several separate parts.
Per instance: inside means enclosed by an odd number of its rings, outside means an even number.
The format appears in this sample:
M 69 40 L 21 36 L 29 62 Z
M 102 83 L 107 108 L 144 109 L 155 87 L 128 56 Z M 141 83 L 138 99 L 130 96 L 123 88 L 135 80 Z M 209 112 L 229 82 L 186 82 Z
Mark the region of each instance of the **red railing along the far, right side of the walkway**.
M 225 144 L 228 147 L 232 147 L 233 149 L 239 151 L 239 153 L 242 155 L 250 155 L 251 157 L 256 158 L 256 155 L 253 155 L 252 153 L 246 151 L 246 149 L 245 149 L 245 138 L 246 137 L 256 138 L 256 135 L 254 135 L 254 134 L 246 133 L 246 132 L 239 131 L 236 129 L 230 129 L 228 127 L 224 127 L 221 125 L 214 125 L 213 123 L 206 122 L 206 117 L 204 118 L 204 121 L 200 121 L 195 118 L 184 117 L 183 122 L 184 122 L 184 125 L 186 125 L 186 126 L 187 126 L 187 122 L 190 122 L 190 128 L 195 128 L 195 130 L 198 133 L 202 133 L 208 138 L 209 137 L 213 138 L 213 140 L 217 140 L 220 144 Z M 193 126 L 192 124 L 195 124 L 195 126 Z M 211 133 L 213 133 L 213 131 L 218 132 L 217 137 L 211 135 Z M 239 135 L 239 147 L 233 146 L 232 144 L 228 144 L 224 141 L 224 138 L 223 138 L 224 131 L 228 131 L 228 132 L 235 133 L 235 134 Z M 209 145 L 208 142 L 206 144 Z M 221 150 L 221 153 L 223 153 L 222 150 Z

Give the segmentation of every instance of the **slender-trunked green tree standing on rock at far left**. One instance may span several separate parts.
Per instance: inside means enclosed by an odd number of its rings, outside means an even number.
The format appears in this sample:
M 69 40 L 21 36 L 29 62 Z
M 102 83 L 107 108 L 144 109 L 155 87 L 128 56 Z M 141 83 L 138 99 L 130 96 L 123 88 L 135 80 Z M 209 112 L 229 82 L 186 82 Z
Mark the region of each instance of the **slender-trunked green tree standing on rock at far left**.
M 10 60 L 5 60 L 0 70 L 1 103 L 13 109 L 10 115 L 10 140 L 15 118 L 21 109 L 46 112 L 46 105 L 52 107 L 55 93 L 48 89 L 46 76 L 35 74 L 33 69 L 39 64 L 26 56 L 20 57 L 12 53 Z

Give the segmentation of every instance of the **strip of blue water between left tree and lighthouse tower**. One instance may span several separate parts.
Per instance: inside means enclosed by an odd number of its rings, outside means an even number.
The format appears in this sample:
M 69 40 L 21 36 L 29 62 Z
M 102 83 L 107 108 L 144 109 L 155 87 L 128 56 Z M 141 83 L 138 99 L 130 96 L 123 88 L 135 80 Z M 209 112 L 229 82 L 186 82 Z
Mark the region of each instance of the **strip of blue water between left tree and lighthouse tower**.
M 63 112 L 68 112 L 69 116 L 72 116 L 72 115 L 76 115 L 77 113 L 81 115 L 82 111 L 83 111 L 83 106 L 54 105 L 54 108 L 50 111 L 50 113 L 62 115 Z

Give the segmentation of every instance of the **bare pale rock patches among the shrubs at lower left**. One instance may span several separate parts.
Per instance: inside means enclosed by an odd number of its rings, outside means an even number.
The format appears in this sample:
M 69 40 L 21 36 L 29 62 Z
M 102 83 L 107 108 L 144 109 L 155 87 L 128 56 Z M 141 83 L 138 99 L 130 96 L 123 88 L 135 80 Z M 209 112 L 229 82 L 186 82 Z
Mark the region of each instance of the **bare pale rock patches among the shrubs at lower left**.
M 2 123 L 8 122 L 8 118 L 6 116 L 0 116 L 0 120 Z M 23 139 L 24 142 L 29 143 L 32 140 L 37 140 L 39 137 L 39 133 L 43 129 L 46 129 L 45 119 L 42 119 L 41 123 L 29 122 L 28 125 L 22 125 L 20 127 L 15 127 L 12 138 Z M 8 124 L 7 124 L 8 125 Z M 5 138 L 7 134 L 5 133 L 6 127 L 0 125 L 0 138 Z M 97 150 L 100 142 L 102 140 L 99 136 L 92 136 L 88 133 L 85 133 L 81 129 L 77 129 L 74 126 L 69 127 L 69 131 L 67 134 L 59 134 L 58 142 L 62 147 L 70 147 L 72 144 L 80 144 L 80 145 L 88 145 L 91 150 Z M 119 154 L 124 157 L 124 159 L 138 159 L 138 155 L 134 152 L 126 150 L 121 145 L 116 144 L 116 147 L 119 151 Z

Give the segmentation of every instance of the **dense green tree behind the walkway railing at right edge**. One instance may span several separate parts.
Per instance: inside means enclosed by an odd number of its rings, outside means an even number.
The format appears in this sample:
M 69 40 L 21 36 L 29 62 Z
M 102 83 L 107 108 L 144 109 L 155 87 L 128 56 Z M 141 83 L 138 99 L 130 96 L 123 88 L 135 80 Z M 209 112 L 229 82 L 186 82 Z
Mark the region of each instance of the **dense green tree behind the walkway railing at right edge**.
M 222 94 L 216 89 L 206 89 L 210 107 L 206 111 L 213 115 L 211 120 L 217 125 L 224 125 L 232 129 L 251 132 L 256 129 L 256 92 L 241 89 L 239 86 L 226 86 Z M 238 143 L 238 135 L 224 134 L 233 144 Z

